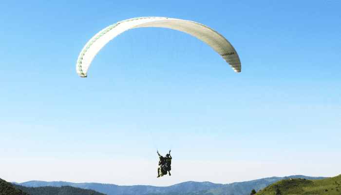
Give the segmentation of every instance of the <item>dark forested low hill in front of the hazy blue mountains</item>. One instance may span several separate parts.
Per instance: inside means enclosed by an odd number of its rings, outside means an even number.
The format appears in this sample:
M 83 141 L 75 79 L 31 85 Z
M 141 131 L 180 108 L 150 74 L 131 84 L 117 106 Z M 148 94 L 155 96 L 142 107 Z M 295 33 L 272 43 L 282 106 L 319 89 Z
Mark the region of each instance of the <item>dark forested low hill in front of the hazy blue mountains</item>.
M 14 185 L 17 189 L 28 193 L 29 195 L 105 195 L 93 190 L 85 190 L 81 188 L 74 188 L 71 186 L 62 187 L 24 187 L 19 185 Z

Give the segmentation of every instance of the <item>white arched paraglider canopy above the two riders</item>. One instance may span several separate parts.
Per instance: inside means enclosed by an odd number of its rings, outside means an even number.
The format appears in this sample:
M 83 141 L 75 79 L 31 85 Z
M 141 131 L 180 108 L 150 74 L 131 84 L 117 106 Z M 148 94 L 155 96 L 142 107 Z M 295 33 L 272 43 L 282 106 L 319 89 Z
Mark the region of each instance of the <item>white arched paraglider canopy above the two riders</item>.
M 236 50 L 227 41 L 227 39 L 225 39 L 225 37 L 208 26 L 190 20 L 165 17 L 141 17 L 119 21 L 104 28 L 91 38 L 78 56 L 76 62 L 77 74 L 82 78 L 87 77 L 91 62 L 95 58 L 96 54 L 110 40 L 125 31 L 141 27 L 170 28 L 196 37 L 213 48 L 223 59 L 227 61 L 235 72 L 241 72 L 241 62 Z

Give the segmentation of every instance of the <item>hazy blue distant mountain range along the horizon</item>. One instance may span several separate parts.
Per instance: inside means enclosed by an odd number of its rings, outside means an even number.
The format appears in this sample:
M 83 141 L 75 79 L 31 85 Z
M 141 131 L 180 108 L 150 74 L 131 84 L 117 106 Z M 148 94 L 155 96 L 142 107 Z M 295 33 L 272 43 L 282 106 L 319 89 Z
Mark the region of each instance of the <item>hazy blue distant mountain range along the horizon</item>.
M 71 183 L 64 181 L 28 181 L 20 183 L 26 187 L 42 186 L 72 186 L 83 189 L 91 189 L 107 195 L 249 195 L 252 189 L 259 190 L 266 186 L 286 178 L 322 179 L 325 177 L 287 176 L 268 177 L 263 179 L 235 182 L 230 184 L 215 184 L 211 182 L 188 181 L 167 187 L 155 187 L 146 185 L 119 186 L 102 183 Z

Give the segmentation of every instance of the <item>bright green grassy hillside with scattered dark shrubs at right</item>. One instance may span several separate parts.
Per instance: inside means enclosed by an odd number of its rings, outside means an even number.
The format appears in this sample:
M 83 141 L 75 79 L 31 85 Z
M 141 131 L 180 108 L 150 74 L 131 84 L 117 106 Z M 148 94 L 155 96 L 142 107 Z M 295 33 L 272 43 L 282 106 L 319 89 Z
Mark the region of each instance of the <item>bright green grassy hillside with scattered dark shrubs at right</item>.
M 256 195 L 341 195 L 341 175 L 327 179 L 284 179 Z

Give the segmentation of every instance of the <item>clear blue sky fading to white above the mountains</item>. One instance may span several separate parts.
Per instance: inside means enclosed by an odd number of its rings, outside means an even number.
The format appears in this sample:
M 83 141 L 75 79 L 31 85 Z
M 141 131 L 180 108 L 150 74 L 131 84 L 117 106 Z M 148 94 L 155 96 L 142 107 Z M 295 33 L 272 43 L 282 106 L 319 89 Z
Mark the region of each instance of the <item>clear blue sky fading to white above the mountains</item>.
M 0 178 L 170 185 L 341 174 L 341 1 L 1 1 Z M 194 20 L 236 48 L 134 29 L 75 64 L 104 27 Z M 156 148 L 172 176 L 156 179 Z

